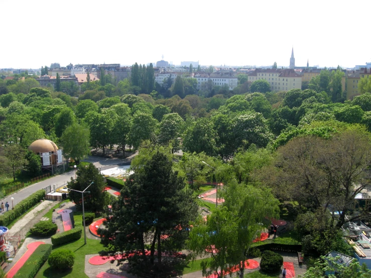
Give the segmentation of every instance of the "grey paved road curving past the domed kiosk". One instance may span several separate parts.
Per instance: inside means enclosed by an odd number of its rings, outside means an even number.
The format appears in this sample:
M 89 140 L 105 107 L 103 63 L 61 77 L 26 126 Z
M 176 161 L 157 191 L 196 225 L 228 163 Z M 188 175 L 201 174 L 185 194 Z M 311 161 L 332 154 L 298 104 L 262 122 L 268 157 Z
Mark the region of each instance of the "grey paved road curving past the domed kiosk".
M 121 166 L 121 165 L 128 165 L 128 164 L 130 164 L 130 161 L 131 161 L 132 157 L 134 157 L 134 156 L 135 155 L 133 155 L 129 158 L 126 158 L 125 160 L 123 160 L 123 159 L 108 159 L 108 158 L 100 158 L 100 157 L 89 156 L 86 160 L 83 160 L 83 161 L 93 163 L 95 165 L 95 167 L 97 167 L 101 170 L 105 170 L 105 169 L 110 169 L 110 168 Z M 43 189 L 43 188 L 45 188 L 49 185 L 53 186 L 53 184 L 56 184 L 57 187 L 62 186 L 64 184 L 66 184 L 68 181 L 70 181 L 71 178 L 75 178 L 75 171 L 70 171 L 70 172 L 67 172 L 67 173 L 63 173 L 62 175 L 58 175 L 58 176 L 52 177 L 50 179 L 47 179 L 45 181 L 30 185 L 30 186 L 18 191 L 17 193 L 9 195 L 6 198 L 0 200 L 0 203 L 3 202 L 4 205 L 5 205 L 5 203 L 8 202 L 10 204 L 9 209 L 12 209 L 12 199 L 11 199 L 12 197 L 14 198 L 13 204 L 16 205 L 20 201 L 22 201 L 23 199 L 27 198 L 32 193 L 34 193 L 34 192 L 36 192 L 40 189 Z

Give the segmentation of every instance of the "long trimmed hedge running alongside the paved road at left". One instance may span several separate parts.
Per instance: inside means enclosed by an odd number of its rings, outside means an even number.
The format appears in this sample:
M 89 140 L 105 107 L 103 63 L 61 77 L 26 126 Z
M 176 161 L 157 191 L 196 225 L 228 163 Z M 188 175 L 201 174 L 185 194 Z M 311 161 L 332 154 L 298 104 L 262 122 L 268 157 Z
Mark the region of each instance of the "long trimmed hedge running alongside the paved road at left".
M 45 197 L 45 190 L 41 189 L 28 196 L 14 206 L 14 209 L 6 211 L 0 216 L 0 226 L 8 226 L 13 220 L 20 217 L 25 211 L 32 208 Z

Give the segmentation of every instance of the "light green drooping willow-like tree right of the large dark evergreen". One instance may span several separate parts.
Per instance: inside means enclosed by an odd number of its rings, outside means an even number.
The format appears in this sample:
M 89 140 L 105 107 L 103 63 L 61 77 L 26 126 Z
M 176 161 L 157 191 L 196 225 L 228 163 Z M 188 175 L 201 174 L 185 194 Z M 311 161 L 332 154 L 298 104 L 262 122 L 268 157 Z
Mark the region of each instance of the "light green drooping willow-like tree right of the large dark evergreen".
M 225 202 L 207 217 L 193 224 L 188 240 L 188 247 L 193 256 L 206 254 L 206 249 L 217 249 L 211 253 L 211 260 L 205 261 L 202 274 L 209 275 L 239 265 L 239 275 L 243 277 L 244 261 L 253 240 L 268 227 L 266 217 L 277 217 L 279 201 L 267 189 L 238 184 L 231 180 L 222 193 Z

